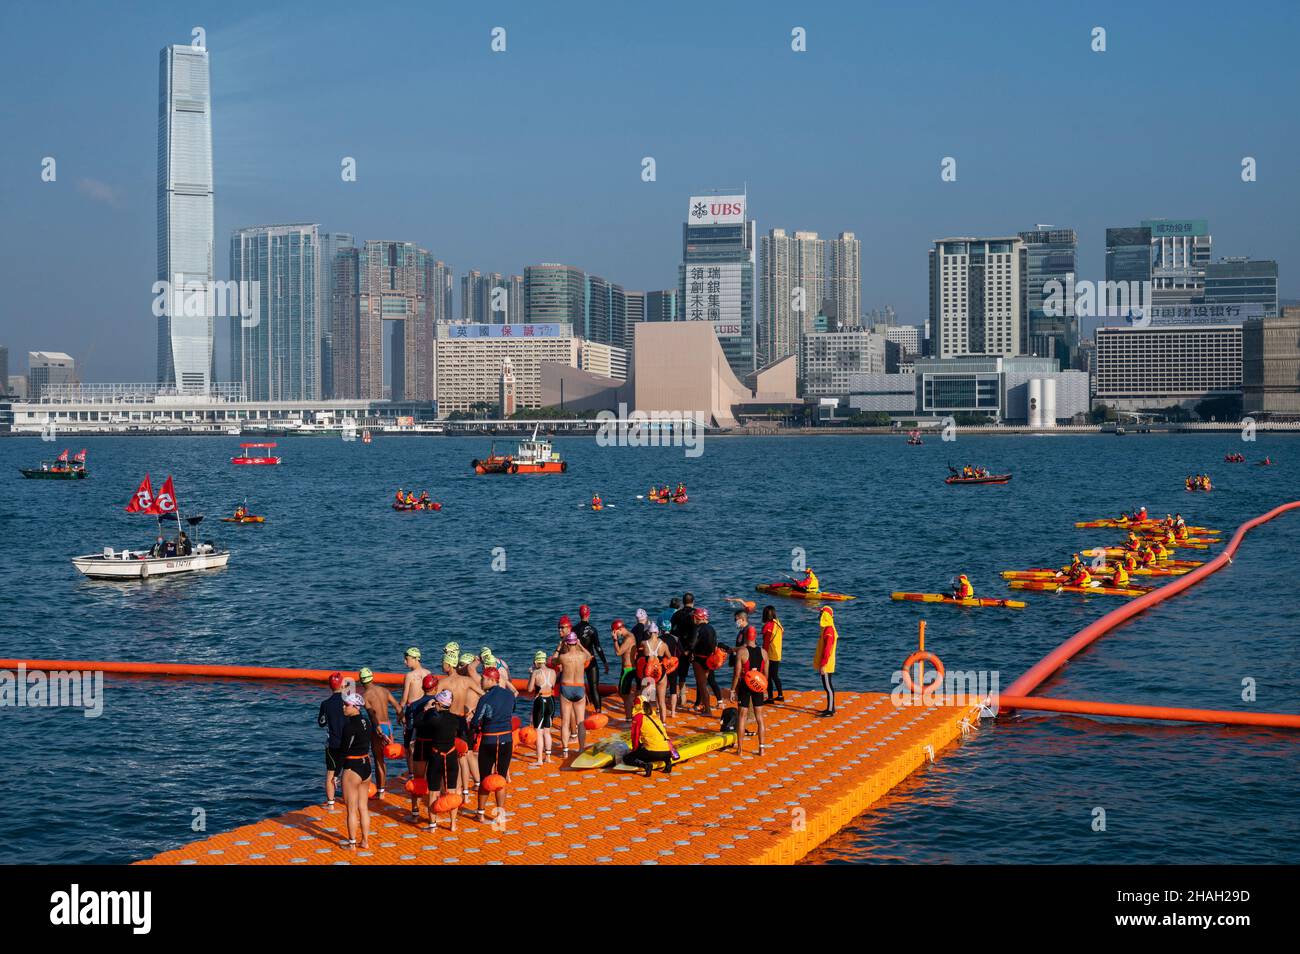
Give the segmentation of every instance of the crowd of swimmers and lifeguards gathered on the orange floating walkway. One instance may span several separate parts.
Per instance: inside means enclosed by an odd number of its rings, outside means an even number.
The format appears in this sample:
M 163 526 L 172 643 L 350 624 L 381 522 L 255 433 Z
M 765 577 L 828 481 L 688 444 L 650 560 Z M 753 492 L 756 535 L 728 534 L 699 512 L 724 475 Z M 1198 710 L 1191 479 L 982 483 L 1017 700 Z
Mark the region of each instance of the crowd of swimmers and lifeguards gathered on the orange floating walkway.
M 762 756 L 770 745 L 763 707 L 785 701 L 780 675 L 784 628 L 772 606 L 763 607 L 758 625 L 750 623 L 755 608 L 748 603 L 734 610 L 736 638 L 729 641 L 714 629 L 708 610 L 686 593 L 672 598 L 658 619 L 637 610 L 632 625 L 614 620 L 607 655 L 590 608 L 580 606 L 576 623 L 567 615 L 558 620 L 554 646 L 537 650 L 526 677 L 520 678 L 524 693 L 532 695 L 526 725 L 514 715 L 520 690 L 510 668 L 489 646 L 472 652 L 450 642 L 436 672 L 425 667 L 419 647 L 407 649 L 400 697 L 377 682 L 369 668 L 361 668 L 355 681 L 333 673 L 317 723 L 328 733 L 326 807 L 334 807 L 342 786 L 347 812 L 343 846 L 368 846 L 368 799 L 385 794 L 387 762 L 395 758 L 407 759 L 404 792 L 413 824 L 426 816 L 425 828 L 433 831 L 438 818 L 447 815 L 455 831 L 462 806 L 468 806 L 472 795 L 477 795 L 472 816 L 480 821 L 497 818 L 506 807 L 516 741 L 532 750 L 534 764 L 543 766 L 556 755 L 567 758 L 571 747 L 582 751 L 589 725 L 610 724 L 598 678 L 610 672 L 611 662 L 619 668 L 616 697 L 630 733 L 625 764 L 642 769 L 646 777 L 656 767 L 671 773 L 679 756 L 668 725 L 688 704 L 703 716 L 712 716 L 714 706 L 720 706 L 722 729 L 736 733 L 734 754 L 745 755 L 746 738 L 753 736 L 753 754 Z M 827 717 L 836 712 L 838 643 L 831 607 L 822 607 L 819 625 L 814 667 L 827 698 L 819 715 Z M 718 675 L 728 664 L 731 677 L 724 689 Z M 688 703 L 692 675 L 696 694 Z

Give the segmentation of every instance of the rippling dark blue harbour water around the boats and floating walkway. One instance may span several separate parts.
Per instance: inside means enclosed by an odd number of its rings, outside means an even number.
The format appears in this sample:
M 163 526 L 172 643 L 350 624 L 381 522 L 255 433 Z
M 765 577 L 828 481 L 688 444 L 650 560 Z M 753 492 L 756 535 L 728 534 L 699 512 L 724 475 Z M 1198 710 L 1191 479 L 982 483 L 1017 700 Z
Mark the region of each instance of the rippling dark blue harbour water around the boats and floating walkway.
M 958 572 L 1006 595 L 998 571 L 1053 565 L 1117 538 L 1075 520 L 1147 504 L 1182 509 L 1225 538 L 1300 496 L 1300 438 L 1223 435 L 708 438 L 680 448 L 602 448 L 567 438 L 569 472 L 474 477 L 473 438 L 285 438 L 278 468 L 228 463 L 237 438 L 84 438 L 92 476 L 23 481 L 52 456 L 0 441 L 0 656 L 239 663 L 399 671 L 419 645 L 486 643 L 521 673 L 555 619 L 589 603 L 597 625 L 656 611 L 690 589 L 715 612 L 753 597 L 802 547 L 827 590 L 858 595 L 836 619 L 837 686 L 888 691 L 927 620 L 949 668 L 996 669 L 1005 688 L 1115 598 L 1028 594 L 1030 608 L 892 603 Z M 1242 450 L 1253 461 L 1223 464 Z M 946 464 L 1009 469 L 1006 486 L 949 487 Z M 1209 472 L 1212 494 L 1183 477 Z M 103 546 L 143 547 L 153 521 L 122 512 L 144 472 L 172 473 L 203 537 L 234 550 L 225 571 L 143 584 L 81 578 Z M 685 507 L 637 500 L 682 480 Z M 394 489 L 428 487 L 441 513 L 396 513 Z M 593 513 L 599 491 L 614 507 Z M 264 526 L 214 521 L 243 499 Z M 506 572 L 493 569 L 504 547 Z M 1254 530 L 1232 567 L 1105 637 L 1044 691 L 1153 704 L 1300 711 L 1300 513 Z M 777 600 L 783 678 L 814 689 L 815 612 Z M 724 620 L 725 621 L 725 620 Z M 1242 701 L 1254 680 L 1258 701 Z M 113 680 L 103 717 L 9 708 L 21 777 L 0 801 L 0 860 L 129 862 L 320 797 L 322 689 Z M 1058 715 L 985 723 L 810 860 L 1183 863 L 1300 860 L 1294 733 L 1123 725 Z M 18 784 L 13 784 L 18 782 Z M 1093 811 L 1106 831 L 1093 832 Z

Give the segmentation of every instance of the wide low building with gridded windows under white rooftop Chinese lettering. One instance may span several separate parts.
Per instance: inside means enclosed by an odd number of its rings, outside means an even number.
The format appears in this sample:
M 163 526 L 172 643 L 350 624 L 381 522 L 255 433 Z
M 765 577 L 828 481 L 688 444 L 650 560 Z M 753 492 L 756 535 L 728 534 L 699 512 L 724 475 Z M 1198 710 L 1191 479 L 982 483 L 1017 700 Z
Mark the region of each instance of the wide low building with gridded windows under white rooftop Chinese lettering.
M 1119 411 L 1187 409 L 1242 393 L 1242 325 L 1098 328 L 1096 399 Z

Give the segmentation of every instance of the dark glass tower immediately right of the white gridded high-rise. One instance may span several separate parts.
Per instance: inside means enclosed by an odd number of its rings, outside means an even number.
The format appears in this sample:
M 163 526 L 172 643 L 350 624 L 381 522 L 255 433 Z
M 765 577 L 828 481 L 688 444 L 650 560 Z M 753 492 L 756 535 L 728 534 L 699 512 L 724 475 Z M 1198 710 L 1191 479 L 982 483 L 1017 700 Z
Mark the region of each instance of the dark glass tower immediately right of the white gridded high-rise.
M 1020 240 L 1024 243 L 1024 351 L 1040 357 L 1056 357 L 1062 368 L 1069 368 L 1070 356 L 1079 346 L 1079 321 L 1074 313 L 1070 278 L 1078 274 L 1078 237 L 1074 229 L 1037 225 L 1022 231 Z M 1060 282 L 1054 299 L 1049 282 Z

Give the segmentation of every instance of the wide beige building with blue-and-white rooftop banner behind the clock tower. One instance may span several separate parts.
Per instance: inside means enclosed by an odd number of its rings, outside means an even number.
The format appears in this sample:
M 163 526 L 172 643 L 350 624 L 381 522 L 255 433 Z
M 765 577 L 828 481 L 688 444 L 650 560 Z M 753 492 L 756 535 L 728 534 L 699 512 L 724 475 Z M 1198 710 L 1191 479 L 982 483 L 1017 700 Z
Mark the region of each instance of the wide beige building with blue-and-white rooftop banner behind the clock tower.
M 567 322 L 511 325 L 443 322 L 434 329 L 438 413 L 471 412 L 497 406 L 500 373 L 510 360 L 516 408 L 542 406 L 543 361 L 576 368 L 580 339 Z

